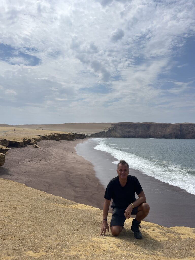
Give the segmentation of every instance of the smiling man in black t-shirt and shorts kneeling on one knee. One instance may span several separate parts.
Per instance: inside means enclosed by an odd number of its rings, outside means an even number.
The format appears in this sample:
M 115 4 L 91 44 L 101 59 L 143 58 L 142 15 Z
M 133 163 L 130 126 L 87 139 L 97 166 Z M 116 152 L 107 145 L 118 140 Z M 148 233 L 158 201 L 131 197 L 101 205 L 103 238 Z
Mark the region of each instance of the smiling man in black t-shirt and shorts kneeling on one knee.
M 142 239 L 139 225 L 149 212 L 146 196 L 138 179 L 135 176 L 128 175 L 129 165 L 125 160 L 118 162 L 116 171 L 118 176 L 110 180 L 104 195 L 103 223 L 100 235 L 105 235 L 106 229 L 109 232 L 107 216 L 110 201 L 113 199 L 111 206 L 113 209 L 112 219 L 110 222 L 112 235 L 118 236 L 123 229 L 126 218 L 129 219 L 130 215 L 136 215 L 132 221 L 131 230 L 134 232 L 135 238 Z M 138 199 L 135 199 L 135 193 L 138 195 Z

